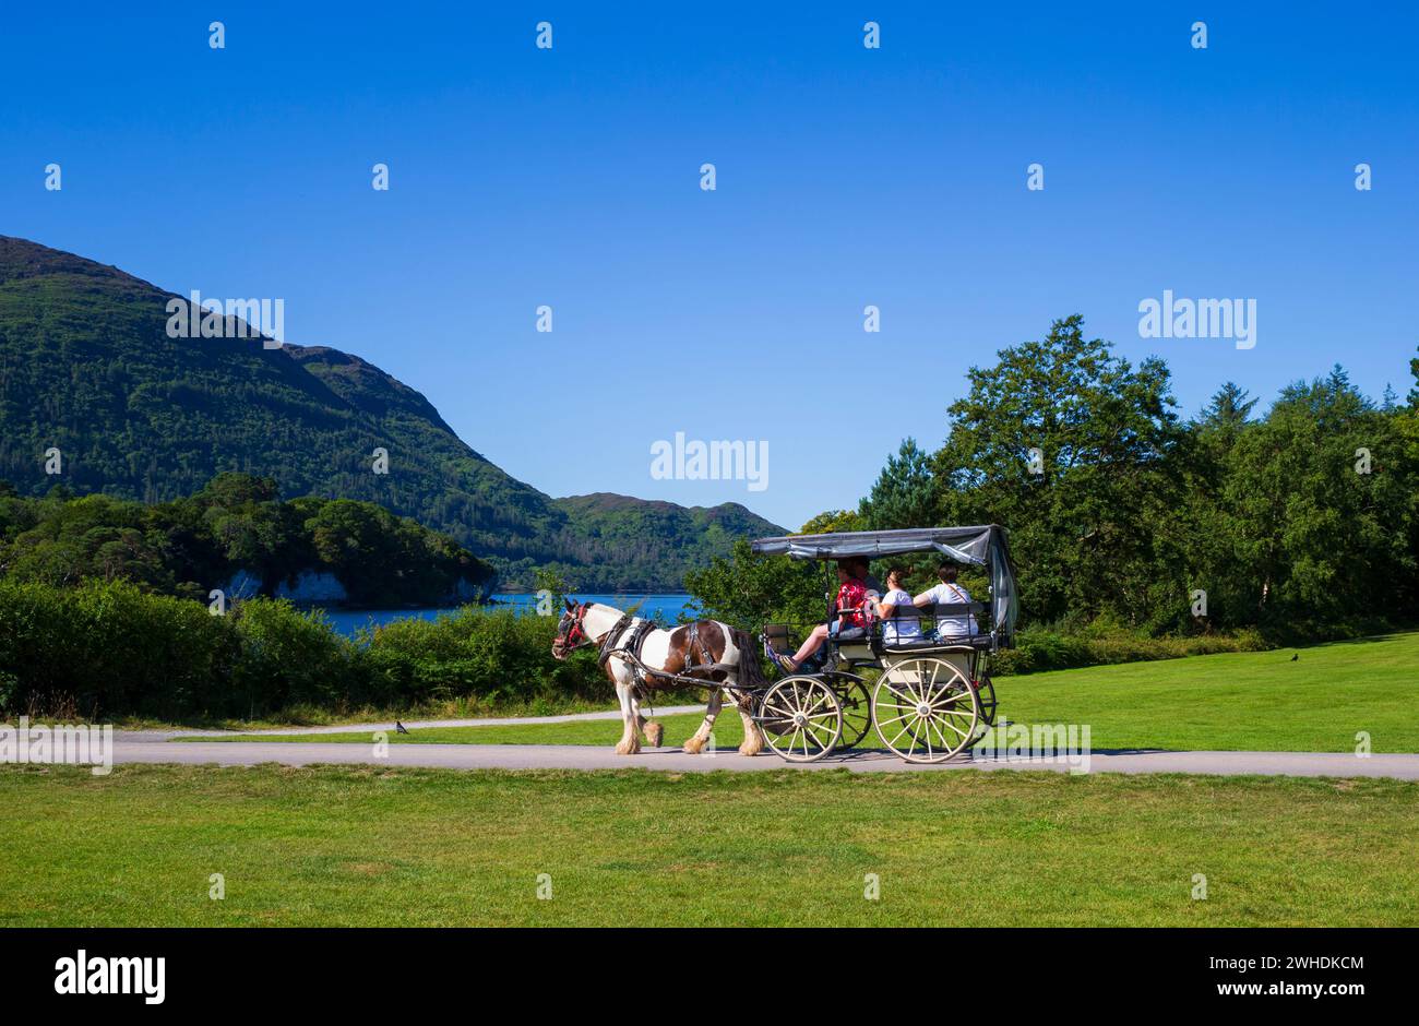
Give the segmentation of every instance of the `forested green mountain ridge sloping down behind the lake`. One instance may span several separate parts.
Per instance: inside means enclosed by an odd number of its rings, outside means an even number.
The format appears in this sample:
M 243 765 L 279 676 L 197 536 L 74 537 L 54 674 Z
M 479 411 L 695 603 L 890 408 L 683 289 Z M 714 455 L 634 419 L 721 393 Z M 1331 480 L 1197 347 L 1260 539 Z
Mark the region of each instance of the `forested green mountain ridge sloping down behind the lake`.
M 61 482 L 160 502 L 221 471 L 267 475 L 288 498 L 377 502 L 443 531 L 505 585 L 555 565 L 583 590 L 677 589 L 734 534 L 782 531 L 736 504 L 552 500 L 372 363 L 325 346 L 265 349 L 260 338 L 170 338 L 172 299 L 184 297 L 0 236 L 0 478 L 21 495 Z M 50 448 L 58 475 L 45 473 Z M 376 448 L 387 474 L 372 471 Z

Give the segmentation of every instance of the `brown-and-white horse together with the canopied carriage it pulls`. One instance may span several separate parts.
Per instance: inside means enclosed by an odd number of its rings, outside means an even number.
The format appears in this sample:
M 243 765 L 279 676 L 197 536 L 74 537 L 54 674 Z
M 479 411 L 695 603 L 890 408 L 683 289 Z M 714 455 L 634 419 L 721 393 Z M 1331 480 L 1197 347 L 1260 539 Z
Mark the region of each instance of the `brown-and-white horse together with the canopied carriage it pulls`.
M 700 729 L 685 742 L 698 754 L 711 738 L 725 698 L 739 711 L 744 755 L 765 745 L 792 762 L 822 759 L 861 744 L 870 729 L 888 749 L 908 762 L 941 762 L 962 752 L 995 722 L 995 687 L 989 657 L 1015 639 L 1015 572 L 999 526 L 912 528 L 853 531 L 822 535 L 761 538 L 753 552 L 792 559 L 885 559 L 932 553 L 988 575 L 988 602 L 935 603 L 920 610 L 895 609 L 900 616 L 931 620 L 927 630 L 902 639 L 880 622 L 832 630 L 820 657 L 779 680 L 759 668 L 753 639 L 718 620 L 697 620 L 661 629 L 603 603 L 566 603 L 552 654 L 566 658 L 576 649 L 596 646 L 599 661 L 616 687 L 623 732 L 616 751 L 634 755 L 644 737 L 660 745 L 660 725 L 641 714 L 641 700 L 656 691 L 708 688 L 710 702 Z M 826 570 L 829 575 L 830 569 Z M 836 609 L 827 593 L 827 619 L 857 620 L 867 609 Z M 955 620 L 973 624 L 942 631 Z M 792 624 L 765 624 L 761 641 L 776 653 L 797 640 Z

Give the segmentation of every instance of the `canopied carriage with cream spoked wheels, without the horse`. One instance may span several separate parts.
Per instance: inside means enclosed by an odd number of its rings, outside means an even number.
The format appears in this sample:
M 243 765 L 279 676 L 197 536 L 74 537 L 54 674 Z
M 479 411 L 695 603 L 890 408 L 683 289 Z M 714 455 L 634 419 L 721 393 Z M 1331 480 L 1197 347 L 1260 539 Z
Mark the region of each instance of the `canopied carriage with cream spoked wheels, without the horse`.
M 995 525 L 851 531 L 762 538 L 753 552 L 833 561 L 937 553 L 961 566 L 982 568 L 989 600 L 897 609 L 929 622 L 901 637 L 881 620 L 833 631 L 816 664 L 805 664 L 755 695 L 753 718 L 765 742 L 793 762 L 820 759 L 861 744 L 870 729 L 908 762 L 941 762 L 962 752 L 995 724 L 990 653 L 1010 647 L 1017 612 L 1015 573 L 1005 532 Z M 836 610 L 829 589 L 827 616 Z M 942 634 L 944 620 L 972 631 Z M 765 624 L 763 640 L 780 653 L 797 647 L 796 627 Z M 876 677 L 876 680 L 873 680 Z

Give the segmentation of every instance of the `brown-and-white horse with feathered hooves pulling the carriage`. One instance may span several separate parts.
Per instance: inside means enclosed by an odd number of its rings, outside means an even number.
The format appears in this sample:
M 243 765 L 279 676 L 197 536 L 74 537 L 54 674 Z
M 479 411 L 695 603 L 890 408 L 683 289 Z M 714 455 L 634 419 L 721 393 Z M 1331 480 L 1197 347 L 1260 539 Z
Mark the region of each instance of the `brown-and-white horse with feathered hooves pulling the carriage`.
M 552 656 L 565 660 L 576 649 L 590 644 L 600 646 L 607 640 L 607 634 L 617 627 L 624 627 L 629 617 L 614 606 L 600 602 L 573 603 L 566 602 L 566 612 L 556 626 L 556 639 L 552 641 Z M 623 631 L 619 631 L 623 633 Z M 613 639 L 619 641 L 619 639 Z M 763 732 L 758 722 L 749 715 L 751 698 L 748 690 L 759 690 L 768 685 L 759 658 L 755 654 L 753 640 L 742 630 L 731 627 L 718 620 L 697 620 L 673 630 L 656 629 L 646 634 L 640 646 L 640 661 L 650 671 L 644 677 L 646 691 L 658 691 L 674 685 L 670 677 L 656 674 L 661 670 L 666 674 L 681 673 L 687 664 L 705 666 L 715 663 L 735 667 L 735 670 L 714 670 L 705 674 L 707 684 L 728 684 L 729 687 L 715 687 L 710 691 L 710 701 L 705 707 L 704 722 L 700 729 L 685 742 L 684 751 L 698 755 L 710 741 L 710 731 L 714 721 L 724 708 L 728 697 L 739 710 L 739 719 L 744 721 L 744 744 L 739 745 L 741 755 L 758 755 L 763 751 Z M 616 685 L 616 697 L 622 710 L 622 739 L 616 745 L 617 755 L 636 755 L 640 752 L 640 738 L 651 748 L 658 748 L 664 737 L 661 724 L 650 722 L 640 714 L 640 688 L 636 685 L 636 673 L 620 656 L 610 656 L 604 661 L 606 675 Z M 738 685 L 734 688 L 734 685 Z

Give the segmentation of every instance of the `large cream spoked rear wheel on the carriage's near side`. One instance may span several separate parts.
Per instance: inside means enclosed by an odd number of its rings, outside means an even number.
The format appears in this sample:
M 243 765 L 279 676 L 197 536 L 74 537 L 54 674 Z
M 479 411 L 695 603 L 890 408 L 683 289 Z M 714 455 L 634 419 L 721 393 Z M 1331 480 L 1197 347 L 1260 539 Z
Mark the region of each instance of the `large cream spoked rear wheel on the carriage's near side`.
M 981 695 L 941 658 L 908 658 L 884 670 L 873 694 L 877 737 L 907 762 L 942 762 L 976 732 Z

